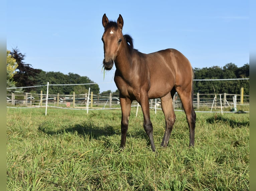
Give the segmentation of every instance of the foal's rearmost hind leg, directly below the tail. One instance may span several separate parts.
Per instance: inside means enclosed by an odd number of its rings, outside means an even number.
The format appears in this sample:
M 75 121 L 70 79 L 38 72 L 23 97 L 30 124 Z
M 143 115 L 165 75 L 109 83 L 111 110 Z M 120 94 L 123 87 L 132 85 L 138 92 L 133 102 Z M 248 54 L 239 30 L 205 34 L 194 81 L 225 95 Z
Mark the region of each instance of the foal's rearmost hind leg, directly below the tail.
M 188 146 L 194 146 L 195 145 L 195 128 L 196 128 L 196 112 L 193 107 L 193 94 L 187 91 L 182 91 L 180 89 L 177 89 L 177 93 L 179 95 L 179 98 L 182 102 L 182 106 L 184 109 L 184 112 L 186 114 L 187 124 L 189 127 L 189 145 Z

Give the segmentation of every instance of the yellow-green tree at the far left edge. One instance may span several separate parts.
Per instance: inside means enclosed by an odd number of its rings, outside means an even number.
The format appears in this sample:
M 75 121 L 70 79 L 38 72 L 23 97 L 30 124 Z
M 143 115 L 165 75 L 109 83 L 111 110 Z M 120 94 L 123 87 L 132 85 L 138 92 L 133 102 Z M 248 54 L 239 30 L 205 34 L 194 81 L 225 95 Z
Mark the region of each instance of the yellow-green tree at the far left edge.
M 18 64 L 16 60 L 12 57 L 10 54 L 11 51 L 6 52 L 6 72 L 7 72 L 7 79 L 6 79 L 6 86 L 7 88 L 13 88 L 15 87 L 15 81 L 13 80 L 13 76 L 16 74 L 16 68 L 18 67 Z

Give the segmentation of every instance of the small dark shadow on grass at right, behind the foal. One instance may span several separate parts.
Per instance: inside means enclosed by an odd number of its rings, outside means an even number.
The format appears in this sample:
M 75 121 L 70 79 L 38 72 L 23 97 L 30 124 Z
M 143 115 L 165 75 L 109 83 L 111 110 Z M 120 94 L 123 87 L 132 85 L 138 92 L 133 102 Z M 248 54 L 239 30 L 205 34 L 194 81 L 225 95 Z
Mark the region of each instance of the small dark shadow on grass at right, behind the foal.
M 237 121 L 232 118 L 224 117 L 222 115 L 215 115 L 213 117 L 209 117 L 208 119 L 206 119 L 206 121 L 211 124 L 224 122 L 224 123 L 227 123 L 231 128 L 237 128 L 237 127 L 241 128 L 241 127 L 246 127 L 250 125 L 249 121 Z

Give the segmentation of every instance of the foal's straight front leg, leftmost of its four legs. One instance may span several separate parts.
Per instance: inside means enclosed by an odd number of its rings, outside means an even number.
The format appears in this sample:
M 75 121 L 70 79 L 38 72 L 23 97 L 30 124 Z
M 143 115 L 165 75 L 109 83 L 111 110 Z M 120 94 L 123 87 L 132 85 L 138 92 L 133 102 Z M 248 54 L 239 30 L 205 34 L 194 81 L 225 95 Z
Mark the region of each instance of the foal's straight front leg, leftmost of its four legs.
M 128 130 L 129 116 L 131 113 L 131 100 L 128 98 L 120 97 L 120 105 L 122 110 L 120 147 L 124 149 L 126 144 L 126 133 Z

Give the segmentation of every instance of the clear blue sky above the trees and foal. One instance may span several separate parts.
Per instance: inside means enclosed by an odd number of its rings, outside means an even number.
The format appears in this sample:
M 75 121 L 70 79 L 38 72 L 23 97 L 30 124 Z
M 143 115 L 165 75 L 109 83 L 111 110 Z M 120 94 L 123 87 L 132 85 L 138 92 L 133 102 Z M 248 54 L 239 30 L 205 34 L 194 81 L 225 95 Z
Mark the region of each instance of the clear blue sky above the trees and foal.
M 174 48 L 193 68 L 249 63 L 249 1 L 9 1 L 7 49 L 18 48 L 35 69 L 69 72 L 115 91 L 103 79 L 102 16 L 124 19 L 123 34 L 143 53 Z

